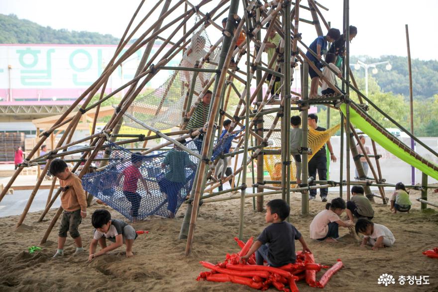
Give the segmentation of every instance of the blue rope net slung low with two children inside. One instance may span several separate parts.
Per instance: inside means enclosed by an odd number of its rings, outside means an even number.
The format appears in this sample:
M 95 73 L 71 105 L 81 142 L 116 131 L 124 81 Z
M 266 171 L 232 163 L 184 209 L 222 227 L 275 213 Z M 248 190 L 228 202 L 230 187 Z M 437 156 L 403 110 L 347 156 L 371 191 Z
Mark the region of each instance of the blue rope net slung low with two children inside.
M 215 141 L 212 160 L 217 159 L 238 133 Z M 185 143 L 199 153 L 202 141 Z M 192 189 L 199 158 L 180 148 L 141 155 L 110 144 L 109 165 L 82 177 L 86 191 L 129 220 L 150 215 L 175 216 Z

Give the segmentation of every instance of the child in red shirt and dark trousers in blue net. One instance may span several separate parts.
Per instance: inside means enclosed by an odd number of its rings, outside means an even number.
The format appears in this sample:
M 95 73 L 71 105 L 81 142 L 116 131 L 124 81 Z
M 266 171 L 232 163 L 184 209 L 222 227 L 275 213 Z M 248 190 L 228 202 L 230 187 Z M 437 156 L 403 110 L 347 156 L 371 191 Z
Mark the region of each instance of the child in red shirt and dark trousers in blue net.
M 146 180 L 141 175 L 140 170 L 138 170 L 138 168 L 141 167 L 142 162 L 143 159 L 140 152 L 132 153 L 131 164 L 119 174 L 118 178 L 118 180 L 120 180 L 121 175 L 124 175 L 123 195 L 131 203 L 131 210 L 129 214 L 132 216 L 132 222 L 137 221 L 138 209 L 140 208 L 141 196 L 137 192 L 137 184 L 139 180 L 143 184 L 146 193 L 150 195 Z

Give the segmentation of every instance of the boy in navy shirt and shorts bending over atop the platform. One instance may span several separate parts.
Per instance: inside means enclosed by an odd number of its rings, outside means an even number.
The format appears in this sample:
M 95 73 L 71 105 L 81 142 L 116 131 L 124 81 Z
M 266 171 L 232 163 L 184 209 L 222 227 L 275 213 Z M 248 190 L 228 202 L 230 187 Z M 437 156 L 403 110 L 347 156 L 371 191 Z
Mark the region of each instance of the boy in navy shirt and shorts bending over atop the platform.
M 338 40 L 340 37 L 340 31 L 336 28 L 330 28 L 327 32 L 326 36 L 317 37 L 309 46 L 309 49 L 313 51 L 317 56 L 315 57 L 309 50 L 306 53 L 306 56 L 309 60 L 317 67 L 317 69 L 322 68 L 322 64 L 320 60 L 322 56 L 327 51 L 327 43 Z M 318 86 L 320 82 L 320 75 L 309 65 L 309 75 L 312 78 L 309 98 L 317 98 L 318 97 Z

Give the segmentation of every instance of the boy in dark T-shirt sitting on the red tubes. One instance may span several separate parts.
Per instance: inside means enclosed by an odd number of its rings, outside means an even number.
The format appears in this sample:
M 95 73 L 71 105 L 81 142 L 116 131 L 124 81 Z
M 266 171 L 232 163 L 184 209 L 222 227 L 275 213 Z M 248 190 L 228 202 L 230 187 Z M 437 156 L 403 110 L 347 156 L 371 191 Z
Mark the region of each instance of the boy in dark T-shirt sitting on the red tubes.
M 294 225 L 284 221 L 289 216 L 290 210 L 289 205 L 281 199 L 271 200 L 266 204 L 266 223 L 272 224 L 263 230 L 242 260 L 248 260 L 257 251 L 257 265 L 263 265 L 263 260 L 271 267 L 294 264 L 295 240 L 300 241 L 303 251 L 310 252 L 301 233 Z

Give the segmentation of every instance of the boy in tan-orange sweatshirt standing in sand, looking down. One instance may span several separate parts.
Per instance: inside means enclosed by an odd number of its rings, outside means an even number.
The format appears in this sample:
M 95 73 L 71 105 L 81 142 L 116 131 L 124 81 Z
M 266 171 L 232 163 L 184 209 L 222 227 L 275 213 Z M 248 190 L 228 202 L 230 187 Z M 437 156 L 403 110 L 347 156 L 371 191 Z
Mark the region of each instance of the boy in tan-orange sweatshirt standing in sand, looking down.
M 75 254 L 83 253 L 82 238 L 79 234 L 79 224 L 87 216 L 87 198 L 82 188 L 82 182 L 72 173 L 64 160 L 55 159 L 50 163 L 50 173 L 59 178 L 61 186 L 61 206 L 64 209 L 58 233 L 58 250 L 54 258 L 64 255 L 64 245 L 67 240 L 67 231 L 76 244 Z

